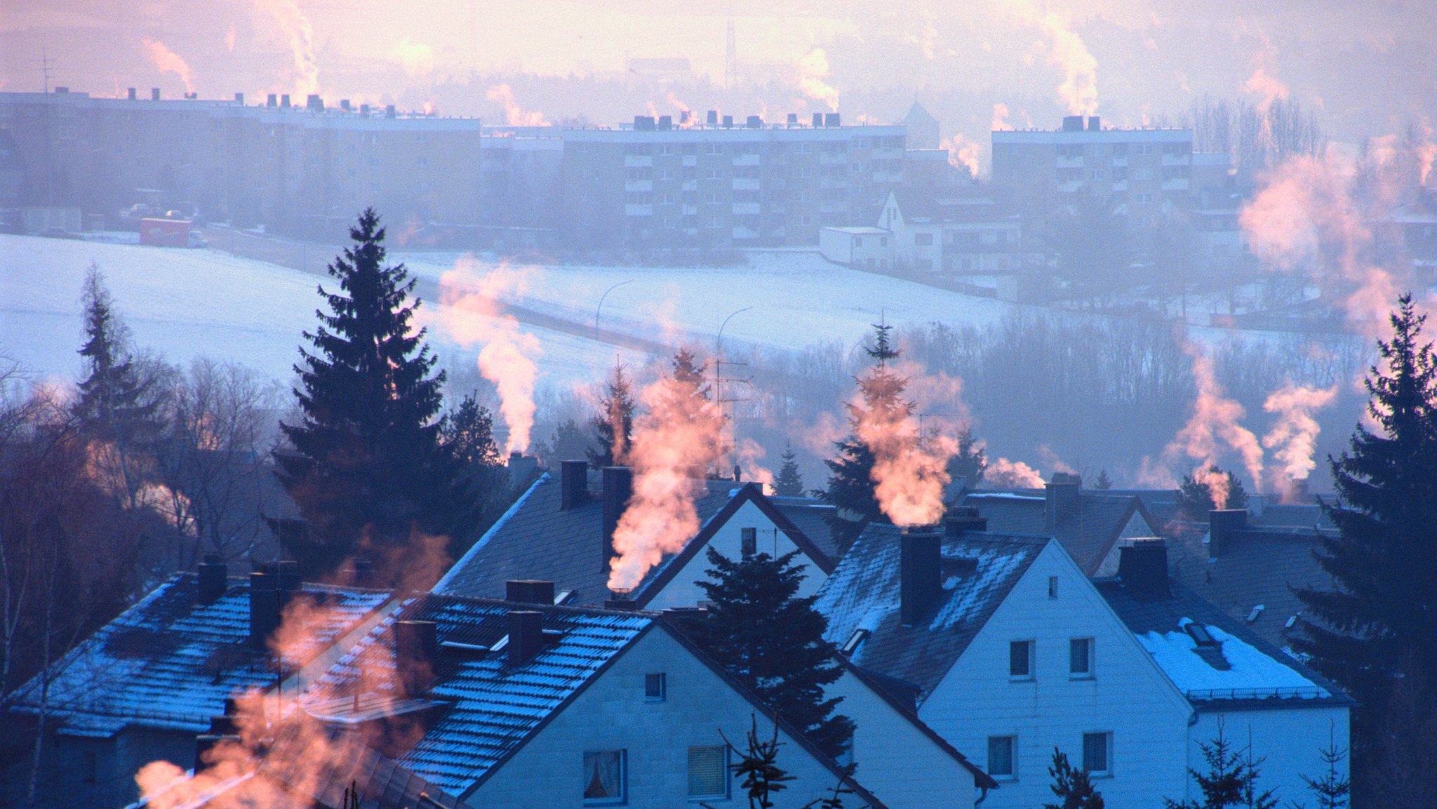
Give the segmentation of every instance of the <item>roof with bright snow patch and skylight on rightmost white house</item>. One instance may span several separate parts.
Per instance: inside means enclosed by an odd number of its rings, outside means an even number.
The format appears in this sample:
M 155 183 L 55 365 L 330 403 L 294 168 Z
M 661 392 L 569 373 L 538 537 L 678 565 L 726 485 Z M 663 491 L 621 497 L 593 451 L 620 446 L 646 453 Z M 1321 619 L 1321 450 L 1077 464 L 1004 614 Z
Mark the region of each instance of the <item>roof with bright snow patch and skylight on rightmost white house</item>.
M 1181 582 L 1168 582 L 1167 598 L 1137 596 L 1118 578 L 1094 585 L 1197 710 L 1351 704 L 1331 681 Z M 1220 657 L 1194 651 L 1197 642 L 1184 629 L 1193 622 L 1220 644 Z

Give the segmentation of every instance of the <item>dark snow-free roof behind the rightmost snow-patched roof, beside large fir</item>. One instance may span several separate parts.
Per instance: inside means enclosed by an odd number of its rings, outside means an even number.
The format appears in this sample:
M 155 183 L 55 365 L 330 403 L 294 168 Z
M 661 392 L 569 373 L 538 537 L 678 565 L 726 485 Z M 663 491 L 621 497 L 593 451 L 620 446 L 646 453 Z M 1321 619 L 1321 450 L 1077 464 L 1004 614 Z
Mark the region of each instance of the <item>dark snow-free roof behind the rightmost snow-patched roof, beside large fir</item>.
M 1173 575 L 1269 644 L 1286 648 L 1286 625 L 1303 609 L 1293 588 L 1332 586 L 1313 558 L 1318 547 L 1313 530 L 1239 530 L 1216 559 L 1183 559 Z

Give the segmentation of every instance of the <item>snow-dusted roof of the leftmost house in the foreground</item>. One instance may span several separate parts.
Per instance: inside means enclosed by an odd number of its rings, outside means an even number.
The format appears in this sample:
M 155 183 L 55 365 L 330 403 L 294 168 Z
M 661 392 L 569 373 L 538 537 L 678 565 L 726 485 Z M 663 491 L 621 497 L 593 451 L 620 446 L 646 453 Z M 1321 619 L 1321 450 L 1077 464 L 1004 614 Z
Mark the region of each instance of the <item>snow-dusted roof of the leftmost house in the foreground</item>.
M 200 733 L 221 713 L 226 697 L 274 684 L 270 654 L 249 641 L 249 581 L 230 579 L 224 596 L 210 605 L 197 604 L 197 576 L 177 573 L 52 667 L 49 710 L 63 733 L 112 736 L 128 726 Z M 313 611 L 315 624 L 292 644 L 286 674 L 329 648 L 391 593 L 305 583 L 292 598 L 326 609 Z M 36 710 L 39 690 L 39 678 L 22 685 L 16 710 Z

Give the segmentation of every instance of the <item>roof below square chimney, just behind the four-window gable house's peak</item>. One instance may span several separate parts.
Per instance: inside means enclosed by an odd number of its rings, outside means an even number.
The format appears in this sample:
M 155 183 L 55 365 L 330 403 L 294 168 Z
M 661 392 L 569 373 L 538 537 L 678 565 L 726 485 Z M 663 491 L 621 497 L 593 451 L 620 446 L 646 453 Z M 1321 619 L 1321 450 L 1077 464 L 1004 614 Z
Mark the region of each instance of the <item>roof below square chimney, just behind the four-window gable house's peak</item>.
M 976 491 L 969 493 L 963 504 L 976 507 L 979 516 L 987 517 L 990 532 L 1050 535 L 1089 576 L 1098 572 L 1134 513 L 1141 513 L 1152 523 L 1142 503 L 1131 494 L 1079 491 L 1076 507 L 1061 514 L 1053 530 L 1046 527 L 1046 503 L 1042 494 Z

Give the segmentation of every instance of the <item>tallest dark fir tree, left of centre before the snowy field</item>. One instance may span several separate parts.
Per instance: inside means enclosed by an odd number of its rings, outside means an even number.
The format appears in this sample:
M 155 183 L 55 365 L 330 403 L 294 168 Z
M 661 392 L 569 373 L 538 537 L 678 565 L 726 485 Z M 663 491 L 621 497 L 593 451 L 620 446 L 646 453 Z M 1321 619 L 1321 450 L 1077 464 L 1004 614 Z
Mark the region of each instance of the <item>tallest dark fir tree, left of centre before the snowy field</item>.
M 299 504 L 303 527 L 274 523 L 310 572 L 335 566 L 361 545 L 408 542 L 414 530 L 456 535 L 474 509 L 458 461 L 440 445 L 444 374 L 425 330 L 411 333 L 414 279 L 385 266 L 379 216 L 365 210 L 354 244 L 329 264 L 339 293 L 323 286 L 328 312 L 305 332 L 295 388 L 302 418 L 280 424 L 290 450 L 277 476 Z

